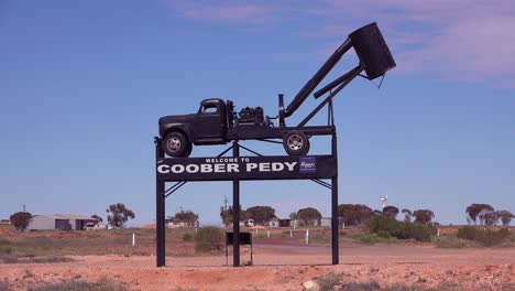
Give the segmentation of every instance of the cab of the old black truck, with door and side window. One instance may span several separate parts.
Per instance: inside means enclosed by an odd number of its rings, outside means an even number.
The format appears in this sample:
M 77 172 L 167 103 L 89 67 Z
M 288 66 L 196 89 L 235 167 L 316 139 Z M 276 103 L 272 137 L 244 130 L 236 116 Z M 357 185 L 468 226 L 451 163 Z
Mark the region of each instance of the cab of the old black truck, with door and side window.
M 226 110 L 222 100 L 205 100 L 200 104 L 195 129 L 198 139 L 222 139 L 226 131 Z

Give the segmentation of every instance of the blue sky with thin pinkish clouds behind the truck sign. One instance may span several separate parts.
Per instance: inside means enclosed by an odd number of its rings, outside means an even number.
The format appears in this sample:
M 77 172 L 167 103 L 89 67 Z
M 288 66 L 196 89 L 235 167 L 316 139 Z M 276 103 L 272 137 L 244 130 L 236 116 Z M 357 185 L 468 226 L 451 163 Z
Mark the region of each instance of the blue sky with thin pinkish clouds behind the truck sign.
M 0 217 L 106 215 L 122 202 L 155 216 L 161 116 L 204 98 L 277 114 L 353 30 L 376 21 L 397 68 L 377 90 L 355 79 L 336 99 L 340 203 L 380 195 L 440 223 L 471 203 L 515 212 L 515 4 L 509 1 L 10 1 L 0 2 Z M 328 80 L 355 65 L 346 55 Z M 289 122 L 316 106 L 313 97 Z M 324 116 L 314 123 L 322 122 Z M 282 147 L 244 143 L 263 153 Z M 314 141 L 313 153 L 329 140 Z M 224 147 L 198 147 L 209 157 Z M 191 183 L 167 215 L 219 224 L 230 183 Z M 330 194 L 310 182 L 244 182 L 243 207 L 281 217 Z

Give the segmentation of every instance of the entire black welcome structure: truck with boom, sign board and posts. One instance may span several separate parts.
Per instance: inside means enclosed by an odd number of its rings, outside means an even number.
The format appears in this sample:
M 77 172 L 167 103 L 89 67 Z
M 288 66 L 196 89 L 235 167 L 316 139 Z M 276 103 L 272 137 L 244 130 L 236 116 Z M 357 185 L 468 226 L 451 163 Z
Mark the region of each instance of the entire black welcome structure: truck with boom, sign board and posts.
M 287 127 L 285 119 L 291 117 L 299 106 L 308 98 L 308 96 L 318 87 L 318 85 L 326 78 L 329 72 L 337 65 L 340 58 L 349 51 L 353 48 L 359 57 L 359 65 L 348 71 L 337 79 L 330 82 L 328 85 L 319 89 L 314 94 L 315 98 L 319 98 L 327 93 L 329 95 L 308 115 L 306 116 L 296 127 Z M 335 116 L 332 108 L 332 99 L 338 93 L 343 89 L 352 79 L 358 76 L 365 77 L 370 80 L 381 77 L 386 74 L 387 71 L 396 66 L 395 61 L 392 57 L 388 46 L 377 28 L 377 24 L 370 23 L 362 26 L 347 37 L 347 40 L 335 51 L 335 53 L 326 61 L 326 63 L 318 69 L 318 72 L 304 85 L 304 87 L 293 98 L 291 104 L 284 107 L 284 96 L 278 95 L 278 116 L 273 119 L 278 119 L 278 127 L 267 121 L 263 122 L 260 118 L 250 118 L 252 122 L 243 122 L 244 126 L 230 127 L 229 119 L 233 119 L 233 112 L 227 116 L 226 107 L 229 107 L 232 111 L 232 101 L 223 104 L 223 115 L 220 119 L 222 122 L 213 123 L 213 120 L 202 121 L 199 120 L 204 117 L 195 116 L 168 116 L 160 119 L 160 134 L 161 137 L 155 138 L 155 159 L 156 159 L 156 230 L 157 230 L 157 267 L 165 266 L 165 200 L 172 193 L 179 190 L 187 182 L 193 181 L 232 181 L 232 209 L 233 209 L 233 266 L 240 266 L 240 181 L 244 180 L 311 180 L 315 183 L 331 190 L 331 245 L 332 245 L 332 263 L 339 263 L 339 242 L 338 242 L 338 152 L 337 152 L 337 131 L 335 127 Z M 361 75 L 361 72 L 365 72 L 366 76 Z M 213 99 L 215 100 L 215 99 Z M 206 101 L 206 100 L 205 100 Z M 207 100 L 208 103 L 212 100 Z M 220 104 L 222 100 L 217 99 Z M 307 126 L 314 116 L 316 116 L 326 105 L 328 105 L 328 117 L 327 126 Z M 254 114 L 241 114 L 242 116 L 256 115 L 256 109 L 253 109 Z M 199 110 L 200 111 L 200 110 Z M 252 110 L 251 110 L 252 111 Z M 261 109 L 262 115 L 262 109 Z M 227 120 L 226 120 L 227 118 Z M 245 120 L 248 118 L 245 117 Z M 259 121 L 261 120 L 261 121 Z M 201 132 L 207 127 L 209 130 L 205 137 L 195 139 L 196 131 Z M 222 129 L 223 133 L 219 132 Z M 212 132 L 211 132 L 212 131 Z M 201 132 L 202 133 L 202 132 Z M 206 133 L 206 132 L 204 132 Z M 215 134 L 217 133 L 217 134 Z M 299 134 L 302 133 L 302 134 Z M 273 139 L 283 139 L 284 143 L 288 143 L 288 137 L 298 136 L 307 144 L 304 150 L 292 149 L 285 146 L 285 149 L 289 157 L 264 157 L 251 149 L 241 146 L 241 140 L 260 140 L 264 142 L 276 142 Z M 200 134 L 201 136 L 201 134 Z M 308 155 L 309 150 L 309 137 L 310 136 L 331 136 L 331 153 L 330 155 Z M 172 143 L 163 142 L 165 140 Z M 202 140 L 204 138 L 204 140 Z M 208 171 L 208 168 L 215 168 L 216 165 L 209 164 L 210 158 L 187 158 L 191 152 L 193 144 L 224 144 L 231 142 L 232 146 L 221 152 L 217 158 L 223 157 L 230 150 L 232 150 L 232 163 L 226 164 L 229 169 L 238 169 L 239 166 L 244 168 L 243 161 L 254 159 L 260 164 L 259 173 L 250 172 L 246 168 L 246 172 L 242 173 L 240 170 L 229 171 Z M 165 159 L 163 144 L 176 146 L 166 148 L 166 152 L 171 157 L 177 157 L 176 159 Z M 178 144 L 178 146 L 177 146 Z M 183 144 L 183 147 L 180 147 Z M 187 144 L 184 147 L 184 144 Z M 241 157 L 240 148 L 246 150 L 258 157 Z M 299 147 L 302 148 L 302 147 Z M 202 159 L 206 163 L 202 163 Z M 209 160 L 209 161 L 208 161 Z M 261 169 L 262 164 L 280 164 L 284 163 L 288 168 L 287 171 L 281 172 L 271 171 L 270 168 Z M 200 164 L 201 163 L 201 164 Z M 218 164 L 217 164 L 218 165 Z M 248 166 L 250 165 L 246 164 Z M 258 163 L 252 162 L 252 165 L 258 166 Z M 202 168 L 204 166 L 204 168 Z M 223 164 L 221 164 L 223 166 Z M 311 166 L 311 168 L 309 168 Z M 294 169 L 295 168 L 295 169 Z M 163 171 L 161 171 L 161 170 Z M 166 169 L 166 170 L 164 170 Z M 175 169 L 175 170 L 174 170 Z M 177 170 L 182 169 L 182 170 Z M 255 169 L 255 168 L 254 168 Z M 277 168 L 278 169 L 278 168 Z M 206 170 L 206 171 L 204 171 Z M 309 170 L 309 171 L 308 171 Z M 313 171 L 311 171 L 313 170 Z M 200 172 L 200 173 L 199 173 Z M 330 183 L 324 181 L 330 179 Z M 167 182 L 175 182 L 169 188 L 166 190 Z

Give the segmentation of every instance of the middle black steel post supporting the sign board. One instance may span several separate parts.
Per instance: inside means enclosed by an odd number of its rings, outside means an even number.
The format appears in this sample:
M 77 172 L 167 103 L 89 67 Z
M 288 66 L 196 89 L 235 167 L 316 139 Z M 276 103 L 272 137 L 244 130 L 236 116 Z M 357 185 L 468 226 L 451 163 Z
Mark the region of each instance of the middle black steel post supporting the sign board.
M 232 155 L 240 158 L 240 144 L 232 142 Z M 232 266 L 240 266 L 240 180 L 232 181 Z

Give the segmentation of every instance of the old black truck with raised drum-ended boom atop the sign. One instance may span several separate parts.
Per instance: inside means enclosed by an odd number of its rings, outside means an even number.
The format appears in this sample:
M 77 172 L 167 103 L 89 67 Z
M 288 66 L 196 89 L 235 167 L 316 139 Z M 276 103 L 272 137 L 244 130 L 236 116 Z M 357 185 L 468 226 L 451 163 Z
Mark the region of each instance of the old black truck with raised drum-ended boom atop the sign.
M 319 98 L 329 96 L 315 108 L 297 126 L 286 126 L 291 117 L 306 98 L 315 90 L 327 74 L 351 47 L 354 48 L 359 65 L 329 83 L 314 94 Z M 284 97 L 278 95 L 278 115 L 264 116 L 263 108 L 245 107 L 239 112 L 231 100 L 218 98 L 205 99 L 196 114 L 165 116 L 160 118 L 160 138 L 164 152 L 169 157 L 187 158 L 193 144 L 224 144 L 234 140 L 282 140 L 289 155 L 306 155 L 309 151 L 309 138 L 313 136 L 332 134 L 335 126 L 306 126 L 306 123 L 353 78 L 362 76 L 364 71 L 368 79 L 374 79 L 395 67 L 381 31 L 376 23 L 368 24 L 349 34 L 348 39 L 326 61 L 320 69 L 298 91 L 292 103 L 285 108 Z

